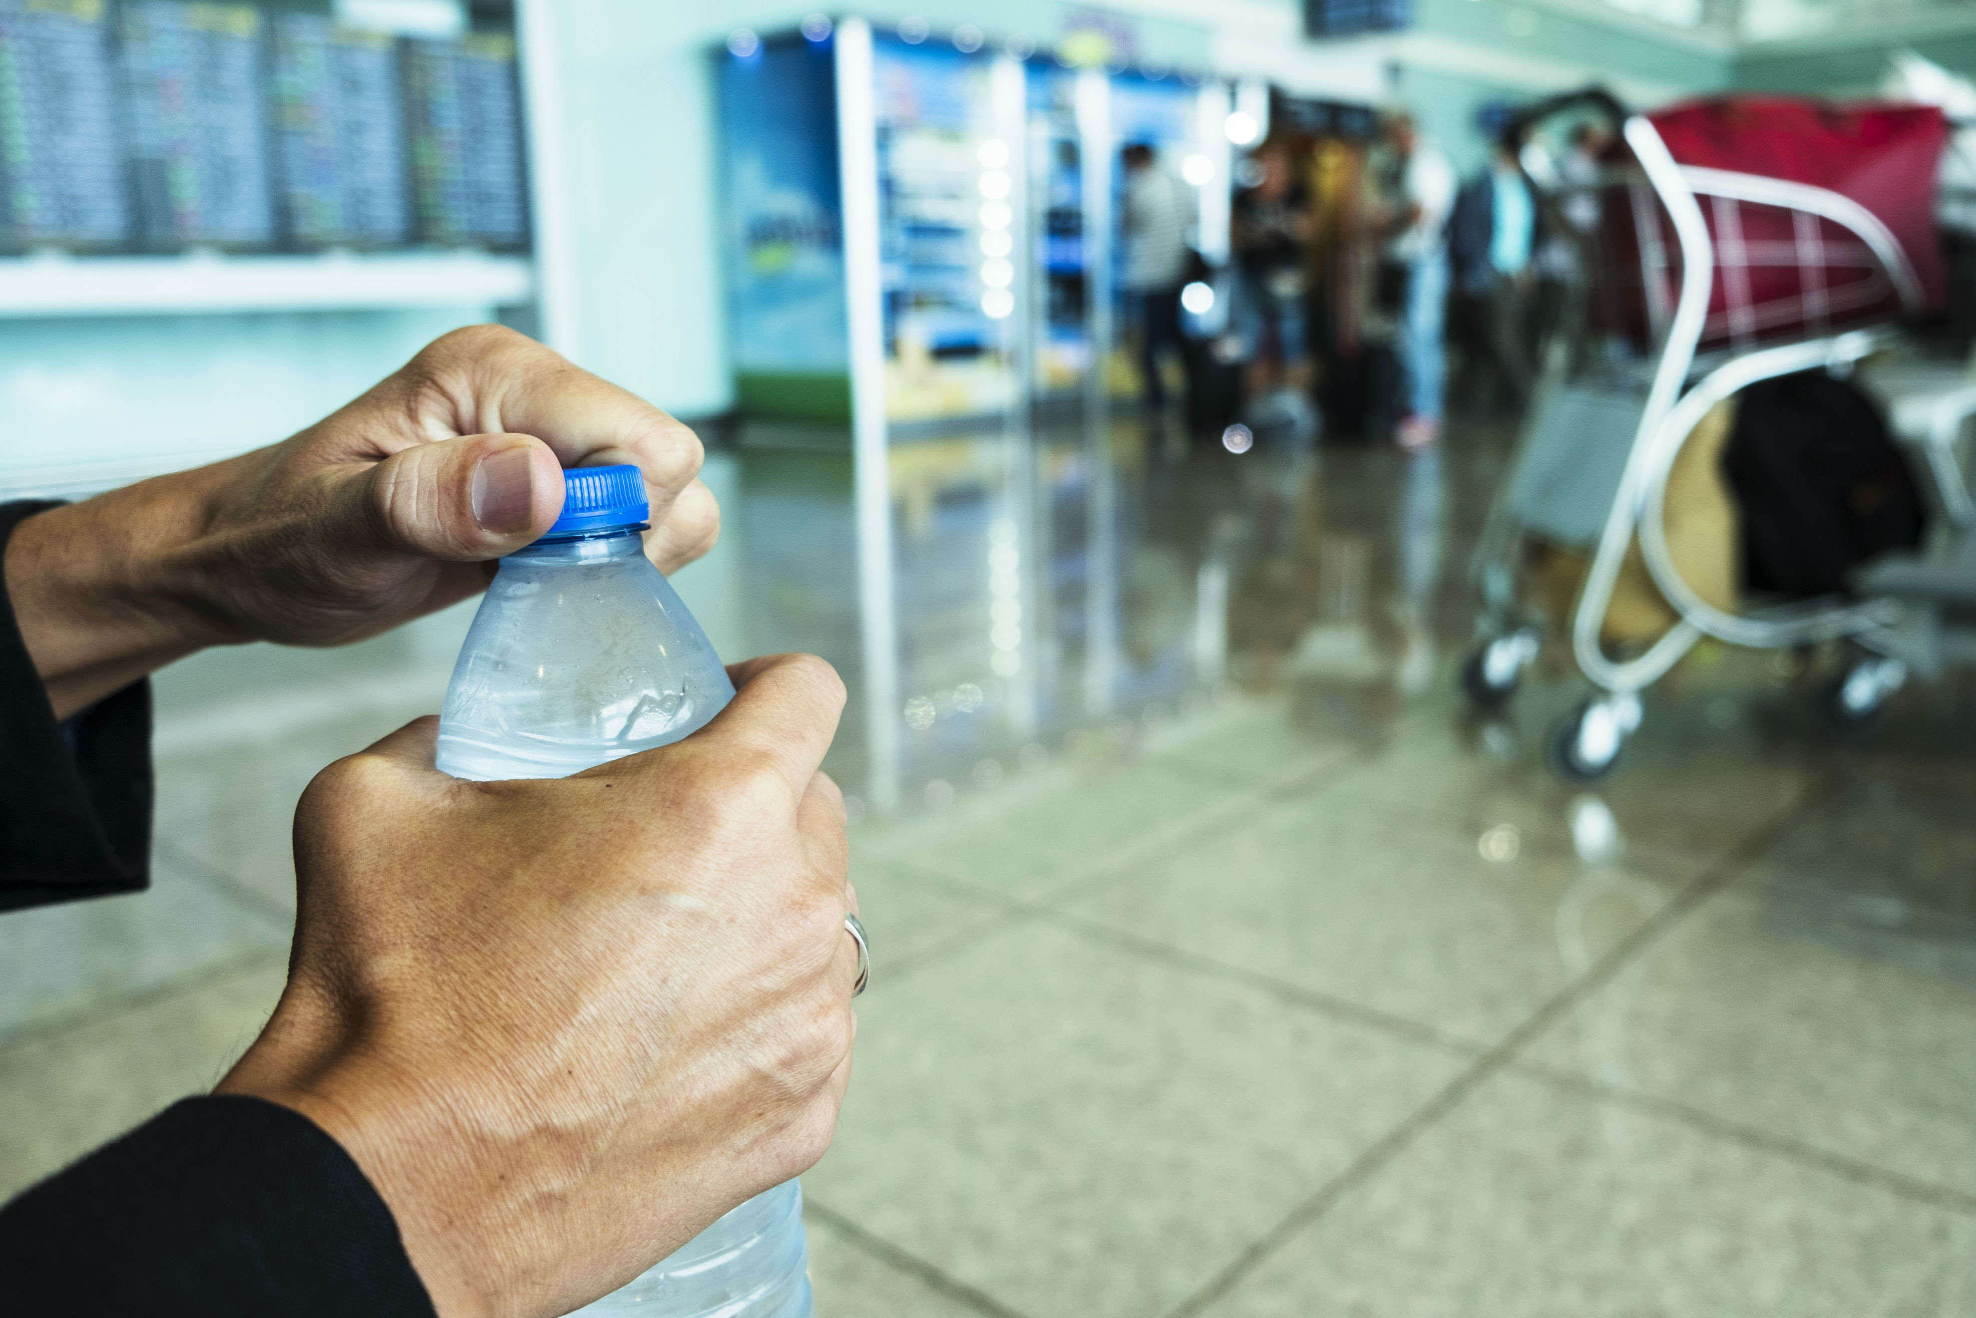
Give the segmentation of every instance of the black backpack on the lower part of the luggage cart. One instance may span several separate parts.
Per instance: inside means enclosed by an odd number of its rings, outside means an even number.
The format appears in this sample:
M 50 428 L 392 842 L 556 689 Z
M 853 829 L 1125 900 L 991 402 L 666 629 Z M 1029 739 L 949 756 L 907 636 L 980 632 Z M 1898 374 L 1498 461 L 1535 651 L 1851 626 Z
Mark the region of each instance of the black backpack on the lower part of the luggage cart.
M 1723 474 L 1743 512 L 1753 591 L 1834 595 L 1865 559 L 1921 543 L 1921 498 L 1885 417 L 1826 371 L 1747 387 Z

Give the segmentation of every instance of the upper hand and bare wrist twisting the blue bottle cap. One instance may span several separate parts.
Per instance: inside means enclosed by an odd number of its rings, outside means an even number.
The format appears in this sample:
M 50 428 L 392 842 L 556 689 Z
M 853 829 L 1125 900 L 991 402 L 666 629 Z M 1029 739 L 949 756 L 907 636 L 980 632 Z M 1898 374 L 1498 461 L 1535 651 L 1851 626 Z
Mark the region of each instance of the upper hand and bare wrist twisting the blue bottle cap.
M 563 466 L 644 468 L 672 571 L 719 534 L 700 458 L 656 407 L 476 326 L 279 445 L 28 518 L 6 587 L 67 717 L 209 644 L 340 644 L 476 593 L 561 512 Z

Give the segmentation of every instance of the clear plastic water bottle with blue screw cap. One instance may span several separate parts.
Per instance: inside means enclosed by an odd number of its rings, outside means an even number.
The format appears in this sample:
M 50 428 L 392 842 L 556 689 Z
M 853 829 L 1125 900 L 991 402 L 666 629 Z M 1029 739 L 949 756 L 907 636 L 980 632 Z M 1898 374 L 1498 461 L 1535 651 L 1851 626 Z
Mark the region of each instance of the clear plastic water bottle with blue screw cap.
M 636 466 L 565 472 L 563 516 L 500 561 L 439 715 L 456 779 L 561 779 L 662 747 L 733 700 L 707 634 L 644 557 Z M 812 1318 L 802 1190 L 763 1192 L 581 1314 Z

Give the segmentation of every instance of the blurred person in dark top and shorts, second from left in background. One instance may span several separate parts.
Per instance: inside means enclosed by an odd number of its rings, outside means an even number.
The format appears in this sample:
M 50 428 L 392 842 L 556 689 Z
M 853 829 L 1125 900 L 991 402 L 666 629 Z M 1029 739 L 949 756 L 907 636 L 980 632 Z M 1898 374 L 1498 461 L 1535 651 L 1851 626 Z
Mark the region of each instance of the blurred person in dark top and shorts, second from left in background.
M 1259 330 L 1249 368 L 1249 397 L 1257 399 L 1251 417 L 1257 425 L 1288 423 L 1304 439 L 1316 431 L 1304 306 L 1310 190 L 1284 142 L 1265 142 L 1249 164 L 1255 184 L 1235 194 L 1229 239 Z

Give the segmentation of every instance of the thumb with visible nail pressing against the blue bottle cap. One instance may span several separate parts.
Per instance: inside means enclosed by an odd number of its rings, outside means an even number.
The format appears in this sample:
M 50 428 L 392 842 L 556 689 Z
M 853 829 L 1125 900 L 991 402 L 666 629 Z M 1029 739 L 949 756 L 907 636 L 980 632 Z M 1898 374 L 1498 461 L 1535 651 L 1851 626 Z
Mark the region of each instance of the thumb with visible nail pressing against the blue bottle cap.
M 532 435 L 464 435 L 413 445 L 364 480 L 393 549 L 476 561 L 512 553 L 563 510 L 563 470 Z

